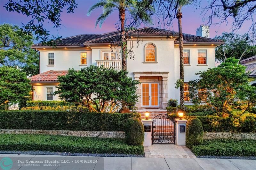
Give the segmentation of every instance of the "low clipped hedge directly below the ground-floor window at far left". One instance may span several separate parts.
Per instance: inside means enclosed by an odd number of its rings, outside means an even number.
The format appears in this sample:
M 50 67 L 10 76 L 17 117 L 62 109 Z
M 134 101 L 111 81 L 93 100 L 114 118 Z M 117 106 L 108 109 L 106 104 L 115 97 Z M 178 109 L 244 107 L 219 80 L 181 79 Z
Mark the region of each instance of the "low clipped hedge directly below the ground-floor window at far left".
M 26 107 L 41 107 L 41 106 L 70 106 L 71 104 L 66 101 L 61 100 L 28 100 L 26 102 Z

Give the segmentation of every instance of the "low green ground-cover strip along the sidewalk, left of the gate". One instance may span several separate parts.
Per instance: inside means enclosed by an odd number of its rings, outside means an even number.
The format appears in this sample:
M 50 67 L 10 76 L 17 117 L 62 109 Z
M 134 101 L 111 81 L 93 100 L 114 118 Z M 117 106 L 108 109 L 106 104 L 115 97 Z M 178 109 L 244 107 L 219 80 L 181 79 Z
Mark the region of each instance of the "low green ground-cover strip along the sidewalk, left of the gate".
M 0 150 L 6 151 L 144 154 L 143 146 L 117 138 L 0 134 L 0 139 Z

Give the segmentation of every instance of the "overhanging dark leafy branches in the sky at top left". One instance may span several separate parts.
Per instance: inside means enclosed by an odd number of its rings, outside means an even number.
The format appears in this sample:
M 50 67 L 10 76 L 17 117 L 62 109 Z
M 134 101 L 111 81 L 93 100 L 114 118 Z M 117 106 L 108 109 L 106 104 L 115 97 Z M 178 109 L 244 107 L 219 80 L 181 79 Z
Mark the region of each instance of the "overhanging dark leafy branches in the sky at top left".
M 39 38 L 45 45 L 54 45 L 54 39 L 60 37 L 50 36 L 49 31 L 44 28 L 44 22 L 52 23 L 54 28 L 59 28 L 60 15 L 63 9 L 66 8 L 67 13 L 74 13 L 77 8 L 76 0 L 9 0 L 4 4 L 7 11 L 13 11 L 26 15 L 31 18 L 27 24 L 23 25 L 21 32 L 25 35 L 36 35 L 36 40 Z

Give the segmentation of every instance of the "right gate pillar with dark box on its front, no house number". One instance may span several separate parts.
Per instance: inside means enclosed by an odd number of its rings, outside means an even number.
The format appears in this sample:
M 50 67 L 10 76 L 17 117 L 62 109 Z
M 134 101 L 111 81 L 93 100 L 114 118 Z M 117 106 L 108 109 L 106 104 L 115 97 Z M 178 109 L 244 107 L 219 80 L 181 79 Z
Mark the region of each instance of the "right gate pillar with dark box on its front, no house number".
M 175 119 L 176 122 L 176 141 L 175 144 L 186 145 L 186 119 Z

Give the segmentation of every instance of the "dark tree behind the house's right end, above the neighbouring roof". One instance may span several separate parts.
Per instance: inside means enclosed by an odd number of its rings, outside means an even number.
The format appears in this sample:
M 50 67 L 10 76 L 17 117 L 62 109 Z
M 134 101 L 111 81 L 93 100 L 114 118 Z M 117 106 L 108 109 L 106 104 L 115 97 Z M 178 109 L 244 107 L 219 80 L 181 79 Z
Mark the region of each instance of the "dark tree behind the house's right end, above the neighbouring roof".
M 225 42 L 225 44 L 215 48 L 215 60 L 217 61 L 224 61 L 230 57 L 240 61 L 256 55 L 256 44 L 247 34 L 239 35 L 224 32 L 214 38 Z

